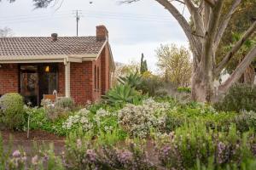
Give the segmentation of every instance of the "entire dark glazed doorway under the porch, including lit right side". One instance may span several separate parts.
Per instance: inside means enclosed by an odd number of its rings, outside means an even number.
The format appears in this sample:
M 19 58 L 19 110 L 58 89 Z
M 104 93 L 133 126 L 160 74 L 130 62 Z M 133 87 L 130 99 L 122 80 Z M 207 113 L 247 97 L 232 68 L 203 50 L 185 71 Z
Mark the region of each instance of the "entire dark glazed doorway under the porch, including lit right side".
M 20 94 L 26 104 L 40 105 L 44 94 L 53 94 L 58 87 L 55 64 L 20 65 Z

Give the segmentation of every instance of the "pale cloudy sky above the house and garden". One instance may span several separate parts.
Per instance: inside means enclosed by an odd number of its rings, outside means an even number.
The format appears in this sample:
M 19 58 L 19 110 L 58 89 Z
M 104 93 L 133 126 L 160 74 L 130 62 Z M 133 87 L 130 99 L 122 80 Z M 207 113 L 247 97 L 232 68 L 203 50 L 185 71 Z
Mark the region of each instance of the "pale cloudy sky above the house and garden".
M 93 3 L 90 3 L 93 2 Z M 175 4 L 188 19 L 182 4 Z M 189 42 L 168 11 L 154 0 L 120 4 L 118 0 L 64 0 L 49 8 L 35 9 L 32 0 L 0 3 L 0 28 L 9 27 L 14 37 L 76 36 L 75 10 L 79 10 L 79 36 L 95 36 L 96 26 L 109 31 L 109 42 L 116 62 L 139 61 L 143 53 L 151 71 L 158 71 L 155 49 L 160 44 Z

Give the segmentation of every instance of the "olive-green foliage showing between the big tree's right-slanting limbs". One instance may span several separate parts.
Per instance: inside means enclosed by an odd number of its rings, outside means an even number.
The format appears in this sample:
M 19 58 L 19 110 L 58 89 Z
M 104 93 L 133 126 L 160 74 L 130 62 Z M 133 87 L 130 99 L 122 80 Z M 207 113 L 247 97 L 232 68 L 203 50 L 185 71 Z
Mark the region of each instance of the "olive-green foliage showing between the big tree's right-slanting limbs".
M 227 0 L 224 3 L 224 14 L 228 12 L 228 8 L 230 8 L 231 0 Z M 240 6 L 236 10 L 236 14 L 233 14 L 230 19 L 230 23 L 228 25 L 227 30 L 224 32 L 224 37 L 222 38 L 222 42 L 218 47 L 217 62 L 224 58 L 225 54 L 234 46 L 234 43 L 239 41 L 244 31 L 247 30 L 249 26 L 252 25 L 252 18 L 256 13 L 256 4 L 250 0 L 241 1 Z M 255 34 L 254 34 L 255 35 Z M 255 36 L 247 39 L 238 53 L 230 60 L 228 65 L 226 66 L 226 70 L 228 73 L 231 73 L 236 69 L 236 65 L 241 62 L 241 59 L 244 58 L 245 54 L 253 48 L 255 45 Z M 256 60 L 254 59 L 253 63 L 250 67 L 256 67 Z M 253 71 L 253 70 L 252 70 Z M 252 72 L 247 72 L 248 74 L 252 74 Z M 247 74 L 246 73 L 246 74 Z

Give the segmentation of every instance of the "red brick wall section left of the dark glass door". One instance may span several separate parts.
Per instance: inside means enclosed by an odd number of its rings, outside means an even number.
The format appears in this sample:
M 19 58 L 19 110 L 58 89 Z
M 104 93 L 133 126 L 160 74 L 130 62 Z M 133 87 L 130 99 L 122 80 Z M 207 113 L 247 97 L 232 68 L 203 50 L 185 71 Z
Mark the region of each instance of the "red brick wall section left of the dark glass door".
M 0 94 L 19 92 L 18 65 L 2 65 L 0 68 Z

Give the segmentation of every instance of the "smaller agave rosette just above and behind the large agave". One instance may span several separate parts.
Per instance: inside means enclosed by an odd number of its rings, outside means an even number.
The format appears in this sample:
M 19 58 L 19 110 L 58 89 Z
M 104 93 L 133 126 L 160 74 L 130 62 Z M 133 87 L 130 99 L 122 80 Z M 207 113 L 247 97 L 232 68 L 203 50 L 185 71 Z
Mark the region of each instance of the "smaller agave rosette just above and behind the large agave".
M 126 77 L 119 77 L 118 81 L 123 85 L 128 84 L 131 88 L 139 89 L 143 83 L 143 78 L 138 72 L 135 72 Z

